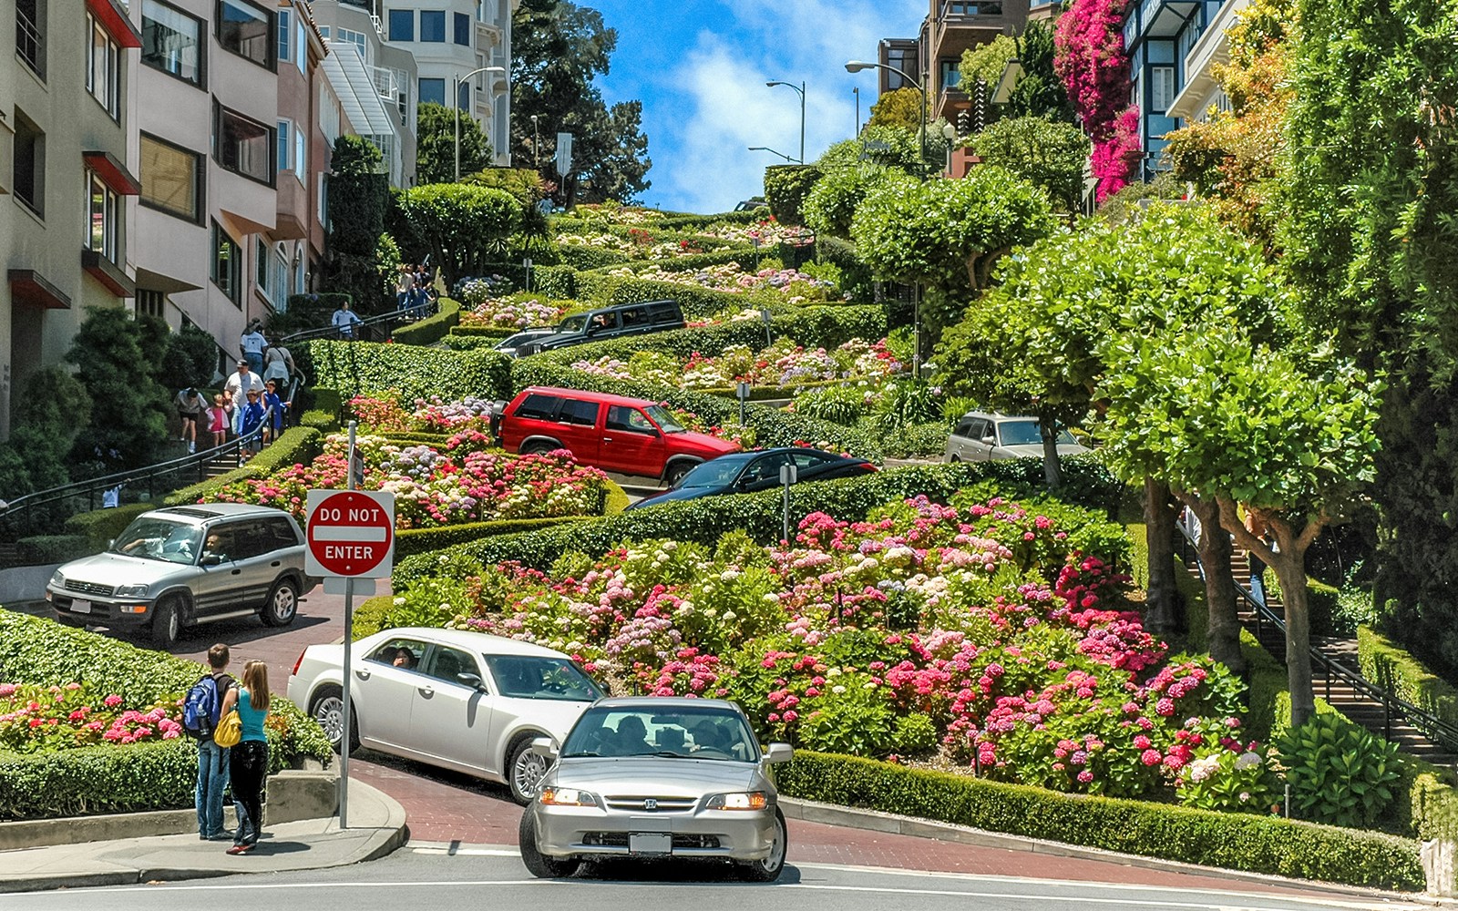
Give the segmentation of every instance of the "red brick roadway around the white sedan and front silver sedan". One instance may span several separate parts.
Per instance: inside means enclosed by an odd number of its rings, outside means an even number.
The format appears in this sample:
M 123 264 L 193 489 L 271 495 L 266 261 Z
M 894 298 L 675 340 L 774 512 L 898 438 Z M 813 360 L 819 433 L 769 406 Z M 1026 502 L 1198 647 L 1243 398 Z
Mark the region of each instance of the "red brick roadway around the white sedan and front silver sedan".
M 383 590 L 381 593 L 385 593 Z M 359 603 L 360 599 L 356 599 Z M 286 630 L 271 630 L 252 621 L 225 621 L 192 630 L 176 644 L 181 657 L 204 660 L 216 641 L 232 647 L 235 673 L 246 660 L 268 663 L 268 681 L 277 692 L 289 684 L 299 653 L 313 643 L 331 643 L 344 633 L 344 598 L 316 589 L 300 605 L 299 617 Z M 350 759 L 350 774 L 385 791 L 405 808 L 411 841 L 461 845 L 515 845 L 519 808 L 504 787 L 429 765 L 366 751 Z M 939 873 L 1025 876 L 1079 882 L 1110 882 L 1175 886 L 1210 892 L 1309 894 L 1264 883 L 1215 876 L 1191 876 L 1143 870 L 1118 863 L 1050 857 L 1025 851 L 972 845 L 838 828 L 815 822 L 790 822 L 790 863 L 873 866 Z

